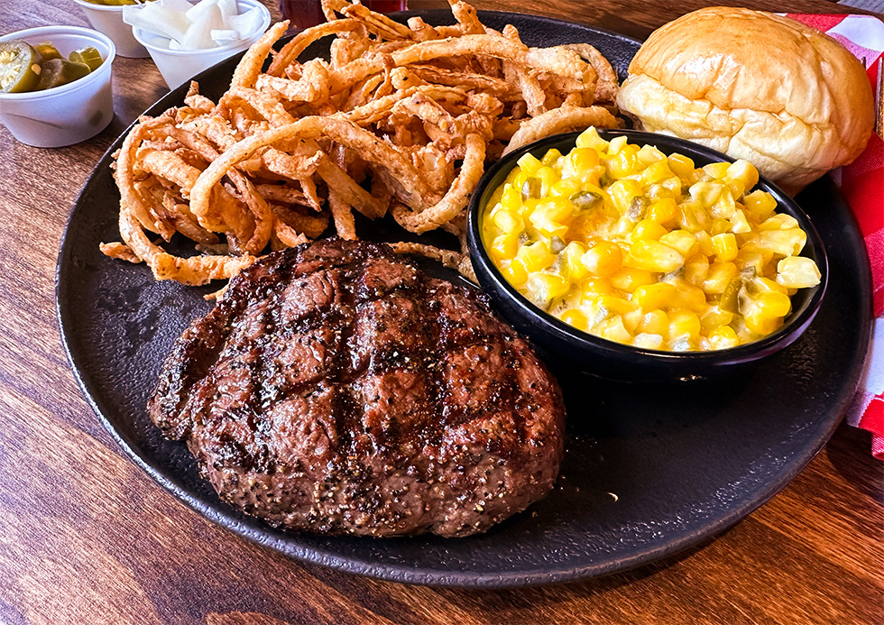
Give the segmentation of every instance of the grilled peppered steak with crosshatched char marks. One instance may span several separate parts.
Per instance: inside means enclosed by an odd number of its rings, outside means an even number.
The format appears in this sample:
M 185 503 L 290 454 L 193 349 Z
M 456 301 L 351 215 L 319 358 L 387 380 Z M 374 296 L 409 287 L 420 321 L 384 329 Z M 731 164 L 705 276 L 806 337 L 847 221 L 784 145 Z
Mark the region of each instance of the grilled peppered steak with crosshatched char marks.
M 475 290 L 337 239 L 244 270 L 149 402 L 222 499 L 276 526 L 466 536 L 556 480 L 557 382 Z

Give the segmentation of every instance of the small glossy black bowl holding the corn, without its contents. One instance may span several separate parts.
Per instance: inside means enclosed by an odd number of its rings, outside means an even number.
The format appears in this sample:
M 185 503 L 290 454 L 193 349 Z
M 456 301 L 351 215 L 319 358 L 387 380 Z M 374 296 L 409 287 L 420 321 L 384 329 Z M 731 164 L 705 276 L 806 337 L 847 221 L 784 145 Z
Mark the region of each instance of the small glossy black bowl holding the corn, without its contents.
M 614 343 L 568 326 L 522 296 L 502 276 L 485 251 L 479 227 L 483 212 L 494 189 L 502 184 L 522 154 L 531 152 L 540 158 L 551 148 L 565 154 L 575 146 L 578 134 L 580 133 L 556 134 L 507 154 L 485 172 L 470 199 L 467 242 L 476 277 L 483 290 L 491 297 L 494 306 L 516 330 L 528 336 L 550 356 L 562 359 L 568 366 L 581 371 L 622 381 L 652 382 L 714 380 L 746 372 L 752 363 L 776 354 L 805 331 L 820 308 L 828 280 L 823 242 L 810 219 L 795 201 L 764 178 L 760 179 L 756 188 L 767 191 L 777 199 L 778 213 L 787 213 L 797 219 L 807 234 L 807 243 L 801 255 L 813 259 L 822 274 L 817 286 L 798 290 L 792 296 L 792 312 L 783 326 L 771 335 L 746 345 L 711 352 L 642 349 Z M 721 152 L 663 134 L 631 130 L 599 130 L 599 134 L 609 141 L 616 136 L 625 135 L 631 143 L 654 145 L 667 154 L 685 154 L 694 160 L 697 167 L 711 162 L 734 161 Z

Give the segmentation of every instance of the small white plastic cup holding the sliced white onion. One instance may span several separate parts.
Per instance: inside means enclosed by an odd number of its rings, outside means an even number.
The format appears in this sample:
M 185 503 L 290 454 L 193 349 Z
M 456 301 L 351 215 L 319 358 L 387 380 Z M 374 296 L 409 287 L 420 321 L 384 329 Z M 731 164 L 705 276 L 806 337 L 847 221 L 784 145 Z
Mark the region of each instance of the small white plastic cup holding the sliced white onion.
M 157 69 L 160 70 L 163 80 L 166 81 L 170 89 L 174 89 L 183 85 L 203 69 L 208 69 L 222 60 L 232 57 L 237 52 L 248 49 L 261 38 L 261 35 L 270 26 L 270 11 L 260 2 L 237 0 L 236 5 L 239 7 L 240 13 L 259 7 L 262 11 L 262 23 L 252 36 L 242 41 L 233 41 L 225 46 L 201 50 L 170 50 L 170 40 L 167 37 L 147 32 L 138 27 L 132 29 L 132 34 L 151 53 L 151 58 L 156 63 Z

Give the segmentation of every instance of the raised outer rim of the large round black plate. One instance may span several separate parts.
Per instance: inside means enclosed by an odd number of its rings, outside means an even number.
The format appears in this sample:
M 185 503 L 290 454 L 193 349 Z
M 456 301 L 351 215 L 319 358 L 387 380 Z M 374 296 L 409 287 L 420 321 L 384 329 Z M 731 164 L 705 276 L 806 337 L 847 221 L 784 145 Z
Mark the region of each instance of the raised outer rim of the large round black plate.
M 483 15 L 493 15 L 504 20 L 509 20 L 510 16 L 515 16 L 520 19 L 528 18 L 531 21 L 545 23 L 548 25 L 548 27 L 553 28 L 560 27 L 562 25 L 565 25 L 568 28 L 573 28 L 576 25 L 581 28 L 585 28 L 588 31 L 598 32 L 603 36 L 608 36 L 623 41 L 624 43 L 630 43 L 635 46 L 640 45 L 640 41 L 621 33 L 606 31 L 586 24 L 569 23 L 566 21 L 557 20 L 555 18 L 532 14 L 513 14 L 509 12 L 493 11 L 479 11 L 478 13 L 480 17 L 483 17 Z M 450 15 L 447 10 L 401 12 L 401 14 L 399 15 L 406 17 L 411 15 L 432 17 L 435 14 Z M 396 16 L 397 14 L 392 15 Z M 225 64 L 226 62 L 230 62 L 230 60 L 222 61 L 221 63 L 218 63 L 218 65 Z M 195 79 L 198 80 L 200 77 L 211 73 L 214 69 L 215 68 L 210 68 L 205 70 L 204 72 L 201 72 L 200 74 L 198 74 L 197 77 L 195 77 Z M 145 115 L 152 115 L 160 110 L 165 110 L 165 108 L 170 106 L 170 102 L 180 100 L 186 93 L 187 83 L 185 85 L 177 87 L 176 89 L 171 90 L 170 93 L 161 97 L 156 103 L 148 108 L 147 111 L 145 111 Z M 101 159 L 98 161 L 97 166 L 100 166 L 101 163 L 105 162 L 106 158 L 108 158 L 111 153 L 115 152 L 115 150 L 119 148 L 119 146 L 124 141 L 125 134 L 129 132 L 134 124 L 135 122 L 133 124 L 130 124 L 130 126 L 126 128 L 126 130 L 115 140 L 115 142 L 111 144 L 111 146 L 106 150 L 105 154 L 103 154 Z M 57 322 L 59 323 L 61 342 L 65 355 L 68 358 L 71 370 L 78 383 L 78 386 L 83 392 L 84 398 L 87 400 L 87 404 L 96 413 L 97 417 L 101 421 L 102 425 L 106 428 L 108 433 L 111 435 L 111 437 L 113 437 L 117 444 L 122 447 L 125 454 L 128 455 L 134 461 L 134 463 L 138 465 L 145 473 L 150 475 L 154 481 L 159 483 L 166 491 L 173 494 L 177 499 L 185 503 L 191 510 L 198 512 L 198 514 L 203 518 L 208 519 L 209 521 L 220 525 L 221 527 L 224 527 L 229 531 L 232 531 L 235 535 L 241 538 L 246 538 L 252 542 L 262 545 L 263 547 L 270 547 L 274 551 L 277 551 L 284 556 L 289 556 L 301 562 L 327 566 L 329 568 L 333 568 L 346 573 L 361 574 L 370 578 L 384 581 L 452 588 L 481 587 L 489 589 L 503 589 L 542 584 L 573 582 L 606 574 L 620 573 L 633 569 L 640 565 L 648 565 L 650 563 L 657 562 L 658 560 L 661 560 L 663 558 L 675 556 L 690 547 L 697 546 L 698 544 L 702 543 L 704 539 L 713 538 L 721 534 L 724 530 L 726 530 L 727 528 L 731 528 L 738 521 L 748 516 L 752 511 L 757 510 L 760 506 L 769 501 L 774 495 L 780 492 L 787 485 L 787 483 L 794 479 L 794 477 L 798 473 L 800 473 L 806 467 L 806 465 L 811 462 L 811 460 L 813 460 L 815 455 L 819 453 L 819 451 L 823 448 L 825 442 L 832 436 L 834 430 L 840 424 L 843 418 L 843 413 L 849 407 L 852 400 L 852 391 L 845 391 L 843 393 L 843 398 L 841 398 L 841 401 L 839 402 L 838 409 L 833 411 L 833 415 L 836 416 L 833 416 L 826 422 L 826 427 L 822 428 L 818 432 L 818 436 L 815 437 L 813 444 L 807 445 L 800 454 L 792 458 L 791 462 L 787 464 L 786 471 L 780 471 L 778 479 L 768 481 L 764 488 L 754 491 L 752 493 L 752 497 L 744 498 L 746 501 L 739 501 L 739 503 L 732 506 L 732 509 L 729 513 L 720 515 L 717 519 L 714 519 L 713 522 L 704 523 L 702 528 L 696 528 L 694 531 L 686 533 L 682 538 L 672 539 L 669 540 L 669 542 L 666 544 L 656 547 L 650 547 L 649 549 L 634 556 L 620 557 L 607 563 L 597 565 L 585 565 L 570 568 L 561 567 L 555 571 L 550 571 L 547 568 L 538 568 L 535 570 L 522 569 L 519 573 L 481 574 L 472 573 L 470 571 L 458 571 L 455 574 L 452 574 L 450 571 L 447 570 L 437 570 L 432 568 L 423 568 L 420 570 L 416 570 L 407 565 L 384 564 L 379 567 L 377 565 L 373 565 L 370 562 L 342 558 L 338 552 L 328 551 L 323 548 L 307 548 L 299 546 L 289 547 L 287 545 L 290 545 L 292 541 L 297 542 L 297 535 L 288 534 L 286 535 L 286 540 L 281 540 L 272 536 L 268 537 L 267 531 L 271 528 L 264 524 L 260 519 L 250 518 L 243 521 L 241 519 L 233 518 L 230 514 L 227 514 L 223 510 L 216 510 L 216 504 L 214 502 L 207 501 L 203 497 L 189 492 L 189 490 L 186 487 L 182 486 L 180 481 L 177 480 L 174 476 L 163 471 L 161 468 L 151 464 L 148 459 L 143 456 L 142 452 L 137 448 L 137 446 L 135 446 L 134 442 L 130 440 L 129 437 L 125 437 L 124 435 L 122 435 L 111 423 L 109 418 L 106 417 L 105 411 L 106 409 L 108 409 L 108 407 L 105 406 L 104 403 L 100 400 L 96 400 L 97 397 L 100 397 L 100 395 L 97 394 L 96 386 L 91 381 L 88 381 L 80 371 L 78 364 L 76 363 L 75 355 L 72 353 L 70 347 L 70 345 L 72 345 L 72 336 L 69 335 L 70 324 L 68 323 L 68 320 L 71 311 L 65 308 L 63 304 L 62 280 L 64 278 L 64 272 L 66 271 L 66 268 L 69 267 L 70 263 L 71 249 L 68 236 L 70 225 L 75 220 L 78 209 L 80 207 L 79 196 L 82 195 L 83 191 L 87 188 L 90 180 L 94 175 L 95 171 L 93 171 L 93 174 L 90 175 L 90 177 L 84 183 L 83 188 L 81 188 L 80 194 L 75 201 L 73 210 L 70 212 L 69 219 L 65 225 L 64 234 L 62 235 L 60 241 L 59 257 L 58 262 L 56 263 L 55 275 L 56 317 Z M 828 179 L 826 181 L 826 184 L 828 184 L 832 188 L 835 194 L 840 195 L 840 191 L 834 187 L 831 179 Z M 855 218 L 853 219 L 853 223 L 854 229 L 850 234 L 853 235 L 853 238 L 856 238 L 858 240 L 859 244 L 862 244 L 861 238 L 858 238 L 858 228 L 855 227 Z M 864 283 L 870 285 L 871 277 L 868 263 L 861 265 L 856 269 L 858 269 L 858 271 L 860 271 L 861 273 L 861 280 Z M 864 315 L 864 321 L 866 321 L 867 323 L 863 323 L 861 332 L 863 336 L 863 343 L 868 344 L 868 339 L 870 339 L 871 335 L 870 289 L 862 291 L 861 299 L 862 308 L 867 311 Z M 861 364 L 864 362 L 864 360 L 865 354 L 862 354 L 862 358 L 856 359 L 857 365 L 853 367 L 852 371 L 850 372 L 850 379 L 847 383 L 843 385 L 843 388 L 856 388 L 860 381 L 862 369 Z M 394 539 L 398 540 L 403 538 Z

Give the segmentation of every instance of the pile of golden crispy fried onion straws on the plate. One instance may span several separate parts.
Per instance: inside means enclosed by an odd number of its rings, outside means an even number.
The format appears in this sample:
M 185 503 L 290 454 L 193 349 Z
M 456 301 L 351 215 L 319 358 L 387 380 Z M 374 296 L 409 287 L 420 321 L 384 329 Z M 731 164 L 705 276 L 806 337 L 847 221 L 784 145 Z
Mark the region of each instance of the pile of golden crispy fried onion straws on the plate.
M 463 240 L 487 164 L 551 133 L 621 125 L 616 72 L 592 46 L 532 48 L 449 4 L 456 23 L 432 26 L 323 0 L 327 23 L 279 51 L 288 23 L 272 25 L 217 102 L 191 83 L 183 106 L 142 117 L 115 155 L 123 243 L 102 252 L 197 285 L 329 232 L 356 239 L 362 217 Z M 327 57 L 300 60 L 325 37 Z M 167 252 L 182 236 L 193 253 Z M 472 273 L 464 249 L 395 247 Z

